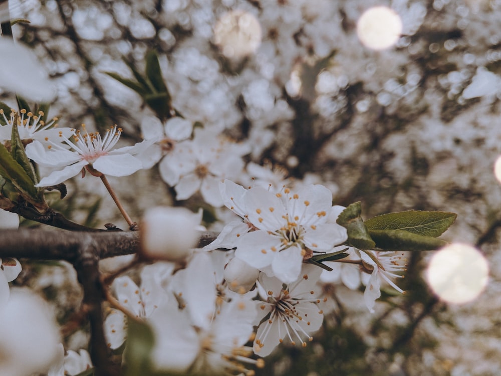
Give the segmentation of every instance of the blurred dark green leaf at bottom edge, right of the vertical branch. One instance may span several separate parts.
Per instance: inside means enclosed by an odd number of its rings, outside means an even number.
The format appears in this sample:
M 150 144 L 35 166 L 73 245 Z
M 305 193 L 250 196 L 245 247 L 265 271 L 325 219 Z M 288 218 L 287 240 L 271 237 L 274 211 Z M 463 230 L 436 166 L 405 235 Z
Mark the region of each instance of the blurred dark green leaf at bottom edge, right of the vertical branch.
M 148 374 L 151 369 L 150 354 L 153 349 L 153 331 L 148 324 L 129 319 L 127 346 L 124 356 L 127 364 L 126 376 Z

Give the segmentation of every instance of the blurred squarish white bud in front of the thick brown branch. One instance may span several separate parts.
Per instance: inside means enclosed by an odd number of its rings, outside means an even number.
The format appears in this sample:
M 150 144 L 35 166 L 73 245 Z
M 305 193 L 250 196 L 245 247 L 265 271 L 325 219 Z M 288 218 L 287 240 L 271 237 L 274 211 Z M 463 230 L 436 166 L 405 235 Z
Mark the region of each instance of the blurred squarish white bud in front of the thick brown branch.
M 146 212 L 140 226 L 145 256 L 180 261 L 191 254 L 198 238 L 199 215 L 185 208 L 156 207 Z

